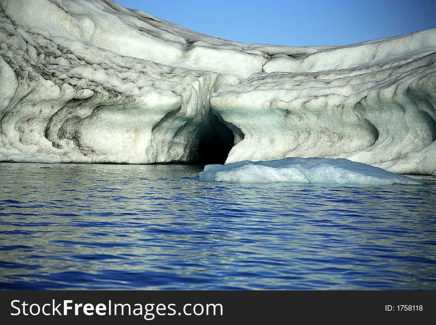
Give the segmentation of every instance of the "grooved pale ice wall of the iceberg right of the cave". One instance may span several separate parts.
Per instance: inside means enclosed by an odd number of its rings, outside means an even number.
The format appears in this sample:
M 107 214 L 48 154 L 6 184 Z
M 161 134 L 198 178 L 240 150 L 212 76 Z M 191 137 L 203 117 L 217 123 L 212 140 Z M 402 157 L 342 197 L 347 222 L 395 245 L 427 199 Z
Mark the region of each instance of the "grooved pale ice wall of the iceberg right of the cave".
M 436 30 L 272 58 L 211 106 L 240 130 L 227 163 L 347 158 L 436 173 Z

